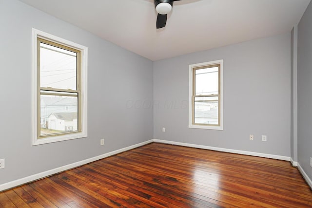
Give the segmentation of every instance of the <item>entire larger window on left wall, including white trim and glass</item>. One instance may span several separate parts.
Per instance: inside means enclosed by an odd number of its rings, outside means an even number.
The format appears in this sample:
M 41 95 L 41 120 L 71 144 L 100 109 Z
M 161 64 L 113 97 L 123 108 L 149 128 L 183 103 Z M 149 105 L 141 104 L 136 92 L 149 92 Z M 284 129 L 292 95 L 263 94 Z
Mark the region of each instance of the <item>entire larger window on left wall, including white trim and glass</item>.
M 87 48 L 33 29 L 33 145 L 87 136 Z

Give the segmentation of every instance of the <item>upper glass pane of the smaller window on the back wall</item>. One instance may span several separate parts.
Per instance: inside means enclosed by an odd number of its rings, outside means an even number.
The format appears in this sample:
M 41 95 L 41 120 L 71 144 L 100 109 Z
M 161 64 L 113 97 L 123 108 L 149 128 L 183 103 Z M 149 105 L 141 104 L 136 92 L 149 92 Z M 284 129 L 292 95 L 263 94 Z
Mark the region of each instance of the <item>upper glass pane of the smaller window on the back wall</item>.
M 218 95 L 218 67 L 195 70 L 195 95 Z

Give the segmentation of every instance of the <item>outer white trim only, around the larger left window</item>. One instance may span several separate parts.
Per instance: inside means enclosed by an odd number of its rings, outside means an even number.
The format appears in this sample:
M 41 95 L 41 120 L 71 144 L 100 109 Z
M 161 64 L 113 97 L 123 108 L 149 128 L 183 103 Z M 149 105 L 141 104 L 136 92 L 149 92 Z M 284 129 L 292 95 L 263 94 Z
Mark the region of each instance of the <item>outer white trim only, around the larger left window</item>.
M 81 132 L 64 134 L 59 136 L 48 136 L 38 139 L 37 135 L 37 38 L 50 40 L 53 42 L 67 45 L 81 51 Z M 32 32 L 32 145 L 41 145 L 52 142 L 78 139 L 88 136 L 88 106 L 87 106 L 87 80 L 88 80 L 88 48 L 72 41 L 59 38 L 57 36 L 39 31 L 33 28 Z

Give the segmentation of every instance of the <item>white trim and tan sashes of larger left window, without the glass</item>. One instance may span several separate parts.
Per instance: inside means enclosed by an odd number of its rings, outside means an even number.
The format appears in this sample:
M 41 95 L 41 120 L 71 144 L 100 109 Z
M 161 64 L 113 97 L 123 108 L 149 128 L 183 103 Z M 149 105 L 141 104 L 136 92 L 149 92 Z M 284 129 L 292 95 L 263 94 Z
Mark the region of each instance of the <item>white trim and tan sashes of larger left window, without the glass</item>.
M 33 28 L 32 34 L 32 145 L 65 141 L 87 137 L 87 57 L 88 48 L 72 41 Z M 56 89 L 40 86 L 40 42 L 74 51 L 77 54 L 76 90 Z M 40 95 L 41 91 L 50 95 L 76 93 L 78 102 L 78 131 L 40 135 Z M 51 93 L 54 92 L 54 93 Z M 62 94 L 64 95 L 64 94 Z

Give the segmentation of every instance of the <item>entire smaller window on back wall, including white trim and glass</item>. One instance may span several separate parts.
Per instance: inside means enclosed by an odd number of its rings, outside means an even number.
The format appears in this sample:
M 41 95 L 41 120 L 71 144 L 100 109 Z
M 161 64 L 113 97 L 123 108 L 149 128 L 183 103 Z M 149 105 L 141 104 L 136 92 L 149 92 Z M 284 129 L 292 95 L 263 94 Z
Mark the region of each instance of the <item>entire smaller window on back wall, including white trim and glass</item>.
M 223 60 L 189 66 L 189 128 L 223 130 Z

